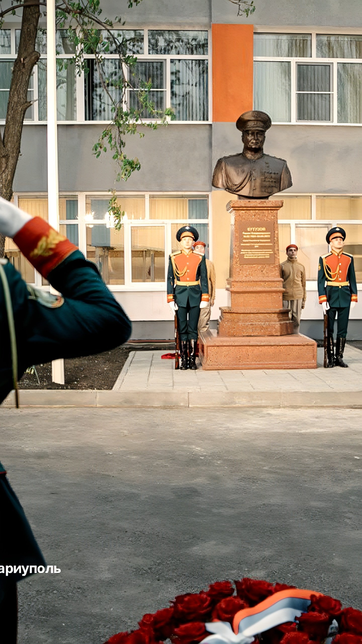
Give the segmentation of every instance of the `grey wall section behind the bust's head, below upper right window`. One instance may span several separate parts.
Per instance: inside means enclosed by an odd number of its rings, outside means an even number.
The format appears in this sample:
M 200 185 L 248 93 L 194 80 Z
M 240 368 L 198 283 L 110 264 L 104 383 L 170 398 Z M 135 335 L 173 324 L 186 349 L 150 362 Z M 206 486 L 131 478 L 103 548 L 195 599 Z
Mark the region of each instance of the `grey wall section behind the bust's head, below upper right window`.
M 220 156 L 242 151 L 234 123 L 213 124 L 213 167 Z M 291 193 L 362 193 L 362 128 L 278 126 L 267 131 L 264 151 L 287 160 Z

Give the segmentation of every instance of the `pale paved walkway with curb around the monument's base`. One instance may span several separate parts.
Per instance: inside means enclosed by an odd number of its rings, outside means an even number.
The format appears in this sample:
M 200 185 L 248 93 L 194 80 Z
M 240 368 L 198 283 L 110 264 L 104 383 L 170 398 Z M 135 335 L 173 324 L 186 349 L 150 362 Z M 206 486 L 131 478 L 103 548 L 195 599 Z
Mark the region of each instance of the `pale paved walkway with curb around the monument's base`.
M 296 407 L 362 408 L 362 352 L 348 346 L 347 369 L 175 371 L 162 351 L 133 351 L 112 391 L 23 390 L 21 406 L 70 407 Z M 5 407 L 14 406 L 10 394 Z

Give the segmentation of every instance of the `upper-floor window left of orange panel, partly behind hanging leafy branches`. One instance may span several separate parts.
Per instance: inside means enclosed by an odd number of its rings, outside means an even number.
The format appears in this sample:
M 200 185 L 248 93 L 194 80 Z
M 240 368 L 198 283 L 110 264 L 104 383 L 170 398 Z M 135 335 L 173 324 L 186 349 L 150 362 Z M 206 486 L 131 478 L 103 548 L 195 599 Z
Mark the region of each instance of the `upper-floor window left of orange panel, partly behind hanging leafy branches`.
M 137 37 L 131 30 L 125 36 L 128 53 L 137 53 L 137 63 L 124 68 L 132 88 L 127 90 L 124 108 L 139 108 L 138 90 L 151 82 L 149 99 L 156 110 L 173 109 L 172 120 L 198 122 L 209 120 L 209 48 L 208 32 L 191 30 L 143 30 Z M 119 33 L 119 32 L 117 32 Z M 142 34 L 142 46 L 141 46 Z M 135 51 L 138 50 L 138 51 Z M 109 97 L 102 88 L 94 57 L 87 57 L 90 70 L 84 77 L 85 120 L 110 120 Z M 104 56 L 108 91 L 120 100 L 122 77 L 119 59 Z M 144 112 L 143 118 L 151 118 Z M 153 118 L 155 116 L 153 115 Z

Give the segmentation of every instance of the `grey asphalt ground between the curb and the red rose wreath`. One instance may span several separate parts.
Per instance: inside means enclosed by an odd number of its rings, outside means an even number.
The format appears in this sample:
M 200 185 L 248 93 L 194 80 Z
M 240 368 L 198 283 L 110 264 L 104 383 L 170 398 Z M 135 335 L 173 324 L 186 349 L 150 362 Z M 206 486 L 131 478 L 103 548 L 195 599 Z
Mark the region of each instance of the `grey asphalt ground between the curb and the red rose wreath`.
M 1 460 L 61 568 L 18 584 L 19 643 L 101 644 L 175 594 L 245 575 L 361 609 L 361 421 L 321 408 L 3 408 Z

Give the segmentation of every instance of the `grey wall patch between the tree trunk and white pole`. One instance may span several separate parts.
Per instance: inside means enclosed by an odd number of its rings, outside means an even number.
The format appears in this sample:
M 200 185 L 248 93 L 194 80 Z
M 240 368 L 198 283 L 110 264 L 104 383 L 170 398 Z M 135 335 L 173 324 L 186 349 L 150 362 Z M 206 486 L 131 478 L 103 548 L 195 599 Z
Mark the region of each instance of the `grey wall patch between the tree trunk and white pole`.
M 23 193 L 47 191 L 46 126 L 24 125 L 13 188 Z

